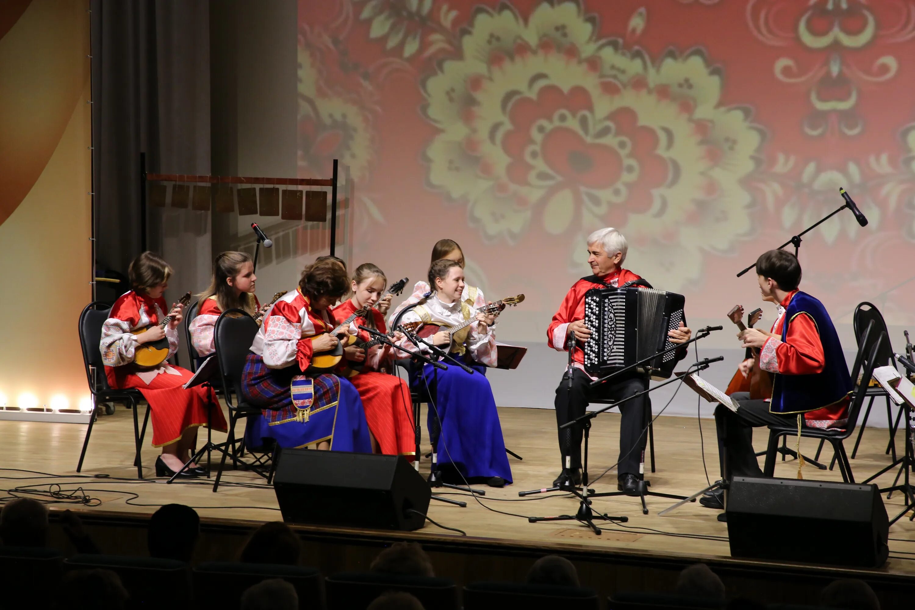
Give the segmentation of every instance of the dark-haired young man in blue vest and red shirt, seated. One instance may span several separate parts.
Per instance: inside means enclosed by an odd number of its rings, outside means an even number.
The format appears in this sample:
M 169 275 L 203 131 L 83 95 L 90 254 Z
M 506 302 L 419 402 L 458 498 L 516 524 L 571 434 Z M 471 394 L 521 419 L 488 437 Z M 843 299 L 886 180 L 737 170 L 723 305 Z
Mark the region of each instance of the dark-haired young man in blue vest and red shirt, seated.
M 737 411 L 719 404 L 715 410 L 722 476 L 762 476 L 753 449 L 753 428 L 797 422 L 815 428 L 841 428 L 848 417 L 852 382 L 842 345 L 826 308 L 798 290 L 801 263 L 783 250 L 757 259 L 763 301 L 779 305 L 771 332 L 748 328 L 737 334 L 744 348 L 759 348 L 759 368 L 774 373 L 772 399 L 749 400 L 735 392 Z M 724 492 L 716 490 L 700 503 L 724 508 Z

